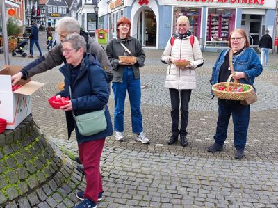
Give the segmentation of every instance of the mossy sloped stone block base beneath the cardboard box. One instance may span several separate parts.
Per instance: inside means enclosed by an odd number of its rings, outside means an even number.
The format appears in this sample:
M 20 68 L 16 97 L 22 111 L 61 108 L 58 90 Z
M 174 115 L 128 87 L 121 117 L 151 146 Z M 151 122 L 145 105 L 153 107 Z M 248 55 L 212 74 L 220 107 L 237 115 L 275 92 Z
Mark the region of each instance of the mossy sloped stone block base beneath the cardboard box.
M 73 207 L 83 176 L 30 116 L 0 134 L 0 207 Z

